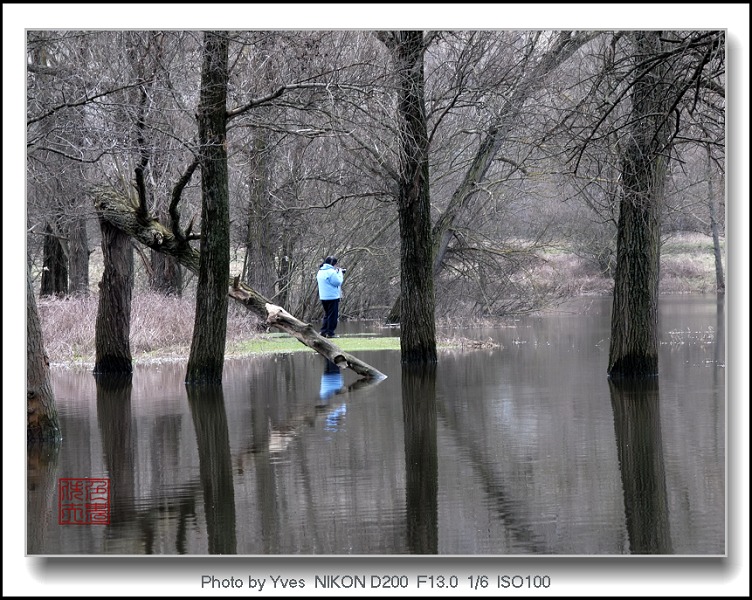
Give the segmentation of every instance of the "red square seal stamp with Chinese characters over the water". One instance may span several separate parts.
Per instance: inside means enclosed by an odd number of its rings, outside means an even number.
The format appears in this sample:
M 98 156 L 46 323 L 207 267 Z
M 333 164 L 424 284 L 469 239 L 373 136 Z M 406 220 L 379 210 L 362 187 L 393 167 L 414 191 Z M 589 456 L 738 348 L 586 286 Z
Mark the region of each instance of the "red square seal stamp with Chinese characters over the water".
M 58 480 L 58 523 L 60 525 L 109 525 L 110 480 Z

